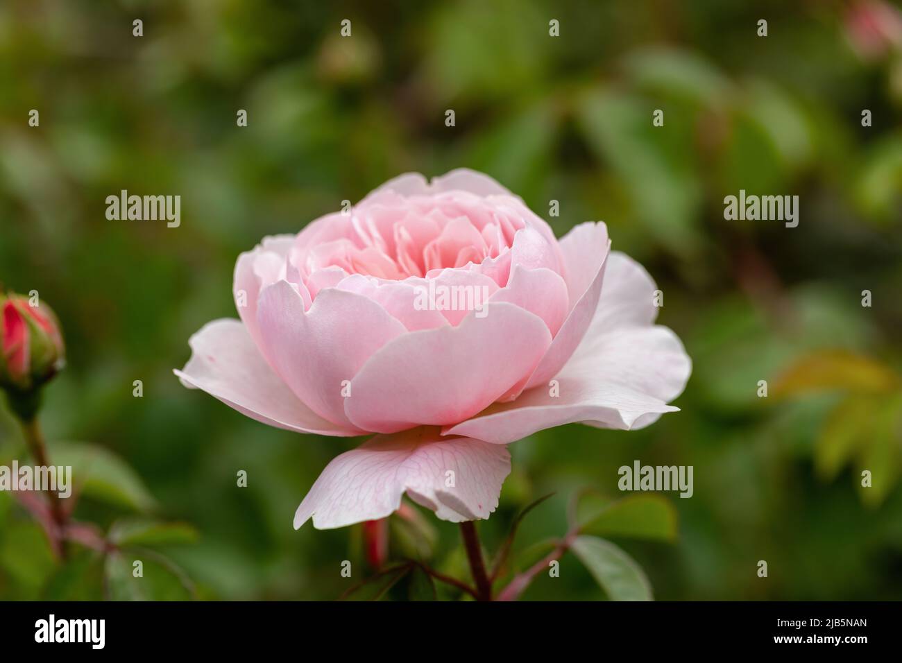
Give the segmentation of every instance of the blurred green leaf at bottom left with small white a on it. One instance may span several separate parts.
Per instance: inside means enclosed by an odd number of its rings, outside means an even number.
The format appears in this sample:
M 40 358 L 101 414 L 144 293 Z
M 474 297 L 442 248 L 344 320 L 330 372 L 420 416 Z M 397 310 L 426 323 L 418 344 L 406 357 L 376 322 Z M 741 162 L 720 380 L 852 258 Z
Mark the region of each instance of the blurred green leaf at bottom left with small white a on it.
M 135 577 L 135 561 L 142 576 Z M 128 554 L 106 556 L 106 586 L 113 601 L 188 601 L 194 587 L 188 576 L 170 559 L 152 550 L 133 548 Z

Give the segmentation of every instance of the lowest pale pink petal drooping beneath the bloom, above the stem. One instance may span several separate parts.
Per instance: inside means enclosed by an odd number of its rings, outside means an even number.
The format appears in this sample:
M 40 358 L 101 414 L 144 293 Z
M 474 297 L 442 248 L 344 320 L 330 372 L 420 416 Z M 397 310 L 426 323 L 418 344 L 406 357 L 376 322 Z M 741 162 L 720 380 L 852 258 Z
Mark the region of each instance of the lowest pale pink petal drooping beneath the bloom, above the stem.
M 500 445 L 441 437 L 437 428 L 379 435 L 326 466 L 300 502 L 294 527 L 311 516 L 317 529 L 385 518 L 399 509 L 404 493 L 441 520 L 488 518 L 508 474 L 511 456 Z

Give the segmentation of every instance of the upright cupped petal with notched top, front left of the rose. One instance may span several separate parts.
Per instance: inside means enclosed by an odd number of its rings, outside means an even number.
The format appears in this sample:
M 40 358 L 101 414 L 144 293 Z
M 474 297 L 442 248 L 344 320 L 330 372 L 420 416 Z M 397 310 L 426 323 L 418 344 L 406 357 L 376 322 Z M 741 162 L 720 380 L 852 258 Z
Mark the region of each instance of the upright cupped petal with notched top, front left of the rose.
M 311 410 L 340 428 L 354 428 L 345 417 L 344 382 L 382 345 L 407 333 L 372 299 L 345 290 L 320 291 L 305 311 L 288 281 L 262 291 L 257 323 L 263 355 L 276 373 Z

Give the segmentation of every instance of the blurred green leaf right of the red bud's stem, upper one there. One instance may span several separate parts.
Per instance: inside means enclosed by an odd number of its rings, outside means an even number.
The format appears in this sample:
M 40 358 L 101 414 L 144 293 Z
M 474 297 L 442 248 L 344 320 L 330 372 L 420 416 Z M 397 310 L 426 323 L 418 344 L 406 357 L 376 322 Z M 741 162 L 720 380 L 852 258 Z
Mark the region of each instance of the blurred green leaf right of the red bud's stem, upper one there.
M 53 442 L 48 447 L 54 465 L 71 465 L 76 493 L 133 511 L 155 508 L 141 477 L 108 449 L 86 442 Z

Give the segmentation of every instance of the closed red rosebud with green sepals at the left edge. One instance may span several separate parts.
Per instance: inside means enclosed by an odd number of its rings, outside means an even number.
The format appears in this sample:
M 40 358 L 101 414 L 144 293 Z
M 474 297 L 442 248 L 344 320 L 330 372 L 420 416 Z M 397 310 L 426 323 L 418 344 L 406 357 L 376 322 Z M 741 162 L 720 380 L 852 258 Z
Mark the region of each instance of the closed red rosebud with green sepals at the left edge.
M 60 323 L 46 304 L 0 294 L 0 387 L 19 394 L 47 382 L 65 363 Z

